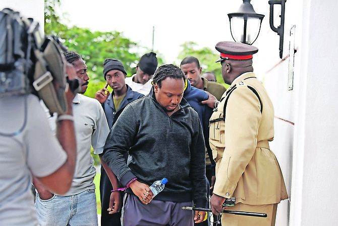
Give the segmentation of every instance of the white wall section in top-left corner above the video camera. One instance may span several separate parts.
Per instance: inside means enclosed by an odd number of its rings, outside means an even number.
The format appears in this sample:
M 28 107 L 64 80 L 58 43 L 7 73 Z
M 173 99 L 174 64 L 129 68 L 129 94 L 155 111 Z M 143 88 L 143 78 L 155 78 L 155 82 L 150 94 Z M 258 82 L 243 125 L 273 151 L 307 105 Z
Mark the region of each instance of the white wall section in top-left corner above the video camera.
M 40 24 L 40 32 L 43 34 L 44 24 L 44 0 L 0 0 L 0 10 L 11 8 L 19 11 L 24 17 L 32 17 Z

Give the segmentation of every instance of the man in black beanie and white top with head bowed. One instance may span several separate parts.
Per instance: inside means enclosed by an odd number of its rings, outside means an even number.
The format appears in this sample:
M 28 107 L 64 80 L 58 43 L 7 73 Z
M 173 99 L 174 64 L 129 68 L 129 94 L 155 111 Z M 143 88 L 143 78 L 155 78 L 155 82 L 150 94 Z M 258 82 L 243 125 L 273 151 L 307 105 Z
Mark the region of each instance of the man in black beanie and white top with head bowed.
M 153 52 L 143 55 L 136 66 L 136 74 L 126 78 L 133 91 L 147 95 L 152 87 L 152 76 L 157 68 L 156 54 Z

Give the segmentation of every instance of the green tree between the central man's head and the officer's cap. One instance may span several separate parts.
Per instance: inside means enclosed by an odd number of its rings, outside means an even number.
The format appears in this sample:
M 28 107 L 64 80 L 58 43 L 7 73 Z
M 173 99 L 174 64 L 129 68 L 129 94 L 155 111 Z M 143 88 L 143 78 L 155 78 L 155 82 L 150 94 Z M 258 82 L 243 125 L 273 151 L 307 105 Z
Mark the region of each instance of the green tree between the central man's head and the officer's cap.
M 180 62 L 176 62 L 177 65 L 180 65 L 181 61 L 187 56 L 196 57 L 200 62 L 200 66 L 202 67 L 202 73 L 206 71 L 211 71 L 215 73 L 217 82 L 225 85 L 226 87 L 229 86 L 224 83 L 220 70 L 220 64 L 215 63 L 215 61 L 218 59 L 217 57 L 219 56 L 216 51 L 213 51 L 207 47 L 198 49 L 197 43 L 193 41 L 184 42 L 181 47 L 183 48 L 183 50 L 179 53 L 178 59 L 180 59 Z

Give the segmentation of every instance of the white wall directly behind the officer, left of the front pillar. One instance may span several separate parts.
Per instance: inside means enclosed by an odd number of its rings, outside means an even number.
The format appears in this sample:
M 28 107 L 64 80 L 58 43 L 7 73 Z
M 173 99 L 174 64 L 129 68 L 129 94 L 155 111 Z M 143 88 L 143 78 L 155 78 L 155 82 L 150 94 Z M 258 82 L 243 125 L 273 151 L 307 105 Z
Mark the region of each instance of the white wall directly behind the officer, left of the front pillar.
M 296 25 L 295 48 L 298 47 L 300 40 L 300 27 L 302 12 L 301 2 L 287 1 L 286 17 L 284 29 L 284 48 L 283 59 L 279 58 L 279 36 L 273 32 L 269 25 L 269 4 L 266 1 L 264 9 L 256 9 L 255 2 L 251 4 L 255 11 L 264 14 L 261 31 L 258 39 L 253 44 L 259 51 L 254 55 L 253 66 L 257 77 L 263 82 L 269 96 L 273 102 L 275 110 L 274 129 L 275 135 L 273 142 L 270 142 L 270 148 L 276 155 L 280 168 L 283 172 L 290 200 L 292 199 L 292 173 L 293 173 L 293 155 L 294 155 L 294 130 L 295 130 L 295 108 L 297 87 L 288 90 L 289 74 L 289 42 L 290 29 Z M 274 26 L 280 25 L 280 6 L 274 6 Z M 292 15 L 292 16 L 290 16 Z M 299 65 L 300 51 L 295 54 L 295 65 Z M 298 66 L 299 67 L 299 66 Z M 295 67 L 296 70 L 296 67 Z M 296 74 L 296 72 L 294 72 Z M 290 221 L 290 200 L 281 201 L 277 208 L 276 225 L 289 225 Z

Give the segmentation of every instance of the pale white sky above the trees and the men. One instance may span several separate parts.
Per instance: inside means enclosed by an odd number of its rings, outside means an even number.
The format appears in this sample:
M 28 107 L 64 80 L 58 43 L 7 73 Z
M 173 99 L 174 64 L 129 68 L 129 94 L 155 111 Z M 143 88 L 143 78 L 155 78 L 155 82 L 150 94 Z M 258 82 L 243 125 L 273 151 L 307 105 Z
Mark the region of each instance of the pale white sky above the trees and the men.
M 255 2 L 262 1 L 253 0 L 251 4 L 254 6 Z M 228 13 L 236 12 L 242 3 L 242 0 L 61 0 L 57 11 L 60 15 L 65 13 L 69 19 L 66 24 L 92 31 L 123 32 L 125 37 L 149 50 L 153 46 L 154 52 L 163 55 L 165 63 L 174 63 L 182 51 L 180 45 L 186 41 L 215 50 L 218 41 L 233 40 Z

